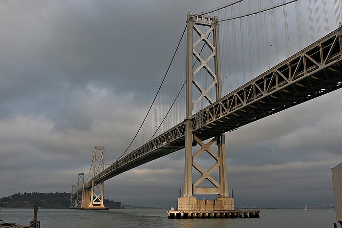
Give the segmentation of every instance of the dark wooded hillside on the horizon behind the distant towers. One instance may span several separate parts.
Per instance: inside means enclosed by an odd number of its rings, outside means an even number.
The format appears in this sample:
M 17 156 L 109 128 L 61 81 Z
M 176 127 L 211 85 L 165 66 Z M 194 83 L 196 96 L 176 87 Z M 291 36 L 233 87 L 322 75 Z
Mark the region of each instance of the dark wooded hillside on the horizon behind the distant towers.
M 11 196 L 0 198 L 0 207 L 2 208 L 33 208 L 35 205 L 42 208 L 69 208 L 70 193 L 16 193 Z M 120 208 L 121 202 L 104 200 L 105 206 L 109 208 Z

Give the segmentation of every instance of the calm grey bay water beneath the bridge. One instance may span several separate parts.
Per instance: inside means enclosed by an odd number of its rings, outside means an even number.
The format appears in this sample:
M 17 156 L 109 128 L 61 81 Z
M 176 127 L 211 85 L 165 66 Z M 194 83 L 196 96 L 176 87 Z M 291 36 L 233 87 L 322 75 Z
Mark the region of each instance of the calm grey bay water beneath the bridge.
M 38 210 L 42 228 L 332 228 L 335 209 L 260 209 L 260 218 L 168 219 L 167 209 Z M 1 208 L 6 223 L 29 225 L 33 209 Z M 339 227 L 339 224 L 338 224 Z

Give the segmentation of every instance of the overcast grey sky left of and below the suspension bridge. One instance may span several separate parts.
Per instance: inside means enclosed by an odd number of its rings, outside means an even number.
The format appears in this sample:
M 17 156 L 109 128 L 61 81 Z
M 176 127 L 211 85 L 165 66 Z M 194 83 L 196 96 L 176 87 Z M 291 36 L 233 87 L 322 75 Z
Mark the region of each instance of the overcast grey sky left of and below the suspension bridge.
M 153 99 L 189 10 L 225 3 L 1 0 L 0 197 L 70 192 L 79 172 L 87 177 L 95 145 L 117 159 Z M 226 134 L 235 205 L 333 203 L 341 96 L 338 90 Z M 108 180 L 105 198 L 170 207 L 183 178 L 181 150 Z

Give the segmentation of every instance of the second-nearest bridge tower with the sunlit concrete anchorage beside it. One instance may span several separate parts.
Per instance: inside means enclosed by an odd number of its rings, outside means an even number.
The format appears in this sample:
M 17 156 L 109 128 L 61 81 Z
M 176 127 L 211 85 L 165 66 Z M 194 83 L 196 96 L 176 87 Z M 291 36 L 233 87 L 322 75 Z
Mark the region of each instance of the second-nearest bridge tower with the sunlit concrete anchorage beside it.
M 95 146 L 93 160 L 92 185 L 83 189 L 82 207 L 85 209 L 104 209 L 104 182 L 95 182 L 96 175 L 105 169 L 105 147 Z

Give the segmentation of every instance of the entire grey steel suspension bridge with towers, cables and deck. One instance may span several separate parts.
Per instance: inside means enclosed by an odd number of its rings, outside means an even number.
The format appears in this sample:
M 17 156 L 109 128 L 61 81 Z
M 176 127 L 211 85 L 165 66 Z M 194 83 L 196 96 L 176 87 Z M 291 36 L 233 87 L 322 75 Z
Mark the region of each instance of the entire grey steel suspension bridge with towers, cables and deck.
M 235 0 L 189 12 L 138 132 L 108 166 L 95 146 L 92 176 L 78 174 L 70 207 L 104 209 L 105 181 L 185 148 L 178 210 L 234 210 L 225 133 L 341 88 L 341 21 L 341 0 Z M 197 162 L 203 153 L 214 159 L 208 170 Z

